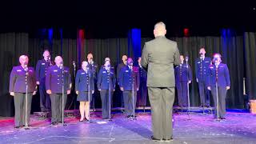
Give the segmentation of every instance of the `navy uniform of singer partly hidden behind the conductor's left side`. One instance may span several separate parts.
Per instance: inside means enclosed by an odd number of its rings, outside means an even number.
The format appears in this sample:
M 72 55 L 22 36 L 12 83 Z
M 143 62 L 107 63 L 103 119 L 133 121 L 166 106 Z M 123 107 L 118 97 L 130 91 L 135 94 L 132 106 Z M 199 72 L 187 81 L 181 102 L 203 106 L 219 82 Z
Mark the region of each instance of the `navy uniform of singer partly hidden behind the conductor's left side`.
M 146 87 L 146 70 L 142 66 L 138 66 L 139 71 L 139 90 L 138 90 L 138 106 L 146 106 L 147 87 Z

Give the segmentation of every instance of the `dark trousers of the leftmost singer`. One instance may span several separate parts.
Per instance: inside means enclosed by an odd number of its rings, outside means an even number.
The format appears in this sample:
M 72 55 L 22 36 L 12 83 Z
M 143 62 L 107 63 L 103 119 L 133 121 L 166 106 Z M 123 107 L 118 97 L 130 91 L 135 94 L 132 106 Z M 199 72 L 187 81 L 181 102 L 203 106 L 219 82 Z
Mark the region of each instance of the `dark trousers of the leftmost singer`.
M 30 124 L 32 95 L 33 95 L 32 93 L 27 94 L 27 103 L 26 103 L 26 93 L 14 94 L 15 126 L 26 125 L 26 122 L 28 125 Z M 26 106 L 27 106 L 27 110 L 26 110 Z

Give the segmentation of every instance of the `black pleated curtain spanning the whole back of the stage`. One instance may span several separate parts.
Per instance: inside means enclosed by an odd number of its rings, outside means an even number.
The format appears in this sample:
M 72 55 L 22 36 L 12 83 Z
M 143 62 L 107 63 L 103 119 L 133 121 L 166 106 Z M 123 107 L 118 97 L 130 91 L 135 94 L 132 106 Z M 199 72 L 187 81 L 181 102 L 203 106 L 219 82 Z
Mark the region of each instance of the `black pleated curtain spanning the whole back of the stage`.
M 142 38 L 142 47 L 146 41 L 152 38 Z M 181 54 L 188 55 L 190 66 L 193 68 L 194 77 L 194 61 L 198 58 L 198 50 L 201 46 L 206 47 L 206 55 L 211 57 L 214 53 L 222 54 L 222 62 L 226 63 L 230 69 L 231 88 L 227 93 L 226 105 L 228 108 L 245 108 L 246 100 L 243 95 L 242 80 L 246 77 L 246 90 L 250 98 L 255 98 L 255 33 L 245 33 L 238 36 L 235 33 L 222 33 L 219 37 L 183 37 L 170 38 L 178 42 L 178 48 Z M 94 54 L 94 61 L 98 66 L 102 66 L 104 58 L 109 57 L 113 66 L 122 62 L 122 55 L 127 54 L 134 57 L 133 49 L 127 38 L 108 38 L 108 39 L 86 39 L 84 42 L 84 50 L 82 50 L 81 59 L 86 60 L 86 55 L 91 52 Z M 0 77 L 2 84 L 0 86 L 0 115 L 13 116 L 14 102 L 8 93 L 9 76 L 12 66 L 18 65 L 18 57 L 21 54 L 28 54 L 30 57 L 30 66 L 36 65 L 38 59 L 42 58 L 42 52 L 48 46 L 52 59 L 57 55 L 62 55 L 64 64 L 70 67 L 72 78 L 73 65 L 72 61 L 78 61 L 77 39 L 60 38 L 54 36 L 52 43 L 47 38 L 29 38 L 27 33 L 8 33 L 0 34 L 0 54 L 1 69 Z M 136 61 L 136 60 L 134 60 Z M 80 65 L 80 64 L 79 64 Z M 77 66 L 81 68 L 81 66 Z M 191 106 L 199 105 L 198 83 L 193 78 L 190 84 L 190 101 Z M 66 109 L 73 109 L 76 102 L 74 95 L 68 98 Z M 120 95 L 114 94 L 114 106 L 120 106 Z M 96 94 L 95 106 L 101 107 L 99 94 Z M 39 94 L 33 98 L 32 112 L 39 111 Z

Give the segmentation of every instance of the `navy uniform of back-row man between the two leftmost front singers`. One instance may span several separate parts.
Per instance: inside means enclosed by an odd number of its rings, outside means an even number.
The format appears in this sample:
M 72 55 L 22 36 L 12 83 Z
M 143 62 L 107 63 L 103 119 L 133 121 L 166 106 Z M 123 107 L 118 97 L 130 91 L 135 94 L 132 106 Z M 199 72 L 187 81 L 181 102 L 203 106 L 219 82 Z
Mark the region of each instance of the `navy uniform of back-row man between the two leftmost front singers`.
M 40 108 L 41 111 L 50 110 L 50 95 L 46 93 L 46 73 L 47 69 L 52 66 L 49 60 L 42 59 L 39 60 L 36 66 L 36 80 L 40 82 L 39 84 L 39 94 L 40 94 Z

